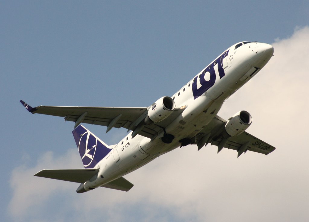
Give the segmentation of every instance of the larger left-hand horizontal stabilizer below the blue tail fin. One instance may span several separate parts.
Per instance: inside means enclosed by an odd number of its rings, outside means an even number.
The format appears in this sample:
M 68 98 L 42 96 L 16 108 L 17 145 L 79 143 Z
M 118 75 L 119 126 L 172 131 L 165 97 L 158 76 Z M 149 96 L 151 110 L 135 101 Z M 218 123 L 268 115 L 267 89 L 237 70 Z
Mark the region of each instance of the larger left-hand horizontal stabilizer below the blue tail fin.
M 59 170 L 41 170 L 35 176 L 50 179 L 65 180 L 75 183 L 85 183 L 91 177 L 98 173 L 99 169 L 59 169 Z

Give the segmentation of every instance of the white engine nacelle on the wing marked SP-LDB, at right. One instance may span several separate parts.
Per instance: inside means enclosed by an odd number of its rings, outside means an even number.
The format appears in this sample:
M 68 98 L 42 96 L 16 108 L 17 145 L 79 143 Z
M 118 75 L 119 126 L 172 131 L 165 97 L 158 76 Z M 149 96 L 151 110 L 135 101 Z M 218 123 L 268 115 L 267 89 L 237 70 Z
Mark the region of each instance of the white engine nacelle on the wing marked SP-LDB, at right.
M 247 111 L 239 111 L 225 125 L 223 137 L 237 136 L 248 129 L 252 123 L 252 117 Z M 226 134 L 227 133 L 227 134 Z

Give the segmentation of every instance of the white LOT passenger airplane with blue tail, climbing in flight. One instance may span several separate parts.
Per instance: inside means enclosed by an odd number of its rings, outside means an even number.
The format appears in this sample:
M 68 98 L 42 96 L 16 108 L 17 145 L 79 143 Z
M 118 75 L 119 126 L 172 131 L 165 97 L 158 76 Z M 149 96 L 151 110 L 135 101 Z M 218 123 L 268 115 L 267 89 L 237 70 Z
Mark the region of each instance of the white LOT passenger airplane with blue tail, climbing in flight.
M 84 169 L 41 170 L 35 176 L 80 183 L 77 193 L 107 187 L 129 191 L 123 176 L 177 147 L 207 144 L 237 151 L 269 154 L 275 147 L 247 133 L 252 123 L 247 111 L 227 121 L 217 115 L 224 101 L 258 73 L 273 56 L 273 46 L 239 42 L 220 54 L 172 97 L 164 96 L 149 107 L 31 107 L 31 113 L 64 117 L 75 122 L 72 131 Z M 129 134 L 108 146 L 81 123 L 125 128 Z

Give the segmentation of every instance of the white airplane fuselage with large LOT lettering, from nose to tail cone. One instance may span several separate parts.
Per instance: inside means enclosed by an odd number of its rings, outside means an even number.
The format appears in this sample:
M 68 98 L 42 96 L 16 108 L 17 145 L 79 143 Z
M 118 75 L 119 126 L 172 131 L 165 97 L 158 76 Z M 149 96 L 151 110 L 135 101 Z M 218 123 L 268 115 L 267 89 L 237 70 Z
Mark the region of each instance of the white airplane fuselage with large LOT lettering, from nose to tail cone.
M 172 96 L 176 107 L 186 108 L 165 128 L 175 137 L 171 143 L 164 143 L 159 136 L 152 140 L 140 135 L 132 138 L 131 132 L 97 164 L 97 179 L 87 181 L 85 189 L 102 186 L 142 167 L 179 147 L 183 138 L 194 138 L 223 102 L 263 68 L 272 54 L 273 47 L 265 43 L 245 42 L 228 48 Z

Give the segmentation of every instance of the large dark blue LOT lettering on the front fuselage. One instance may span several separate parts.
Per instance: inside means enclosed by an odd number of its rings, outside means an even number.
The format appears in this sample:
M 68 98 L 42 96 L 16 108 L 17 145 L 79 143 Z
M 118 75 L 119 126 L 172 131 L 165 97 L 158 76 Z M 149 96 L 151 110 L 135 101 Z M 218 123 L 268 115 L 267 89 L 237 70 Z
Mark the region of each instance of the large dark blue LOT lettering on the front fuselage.
M 206 67 L 203 72 L 196 76 L 192 83 L 193 98 L 196 99 L 210 89 L 216 82 L 216 74 L 222 79 L 225 76 L 224 69 L 222 66 L 223 59 L 226 59 L 229 50 L 225 51 L 219 56 L 212 64 Z M 205 79 L 206 76 L 206 79 Z M 199 81 L 199 84 L 197 84 Z

